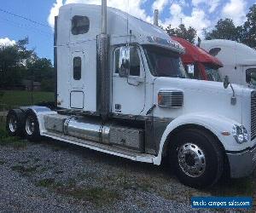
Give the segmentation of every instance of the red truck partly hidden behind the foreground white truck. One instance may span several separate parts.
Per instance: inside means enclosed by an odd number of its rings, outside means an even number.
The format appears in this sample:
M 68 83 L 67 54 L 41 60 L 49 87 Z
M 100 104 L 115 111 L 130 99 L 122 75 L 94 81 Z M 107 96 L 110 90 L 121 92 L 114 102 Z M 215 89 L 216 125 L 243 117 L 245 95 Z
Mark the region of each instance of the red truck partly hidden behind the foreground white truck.
M 184 66 L 187 66 L 186 71 L 190 78 L 206 81 L 222 81 L 218 72 L 218 69 L 223 67 L 220 60 L 181 37 L 172 37 L 172 39 L 182 44 L 185 49 L 182 60 Z M 189 70 L 192 73 L 189 73 Z

